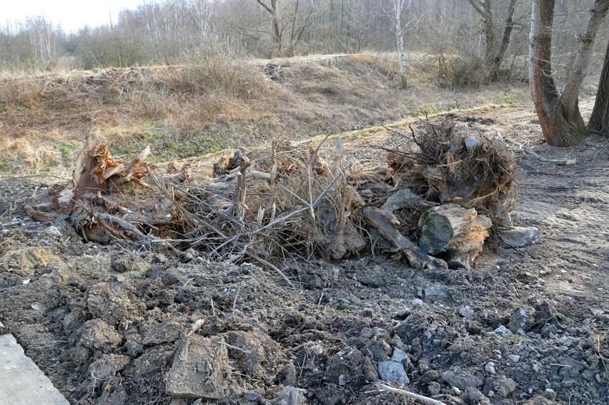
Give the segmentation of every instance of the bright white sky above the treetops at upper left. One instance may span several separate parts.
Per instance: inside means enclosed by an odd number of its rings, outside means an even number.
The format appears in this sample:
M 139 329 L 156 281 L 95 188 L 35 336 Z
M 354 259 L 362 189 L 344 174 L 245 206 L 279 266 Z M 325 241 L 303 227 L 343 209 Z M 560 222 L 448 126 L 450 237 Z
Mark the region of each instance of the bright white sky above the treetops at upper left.
M 54 24 L 61 24 L 67 33 L 85 25 L 99 26 L 116 23 L 119 11 L 135 9 L 144 0 L 2 0 L 0 24 L 11 25 L 29 16 L 41 16 Z

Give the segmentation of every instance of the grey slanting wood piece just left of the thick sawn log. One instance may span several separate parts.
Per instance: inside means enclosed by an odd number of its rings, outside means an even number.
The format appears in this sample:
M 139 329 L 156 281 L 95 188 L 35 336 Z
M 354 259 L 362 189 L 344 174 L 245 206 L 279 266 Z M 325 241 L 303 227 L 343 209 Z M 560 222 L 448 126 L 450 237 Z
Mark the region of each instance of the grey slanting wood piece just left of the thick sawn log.
M 362 211 L 362 215 L 366 224 L 377 229 L 385 239 L 406 255 L 411 266 L 419 269 L 446 267 L 445 261 L 429 256 L 419 246 L 412 243 L 410 239 L 400 234 L 397 230 L 400 221 L 389 211 L 381 208 L 367 207 Z

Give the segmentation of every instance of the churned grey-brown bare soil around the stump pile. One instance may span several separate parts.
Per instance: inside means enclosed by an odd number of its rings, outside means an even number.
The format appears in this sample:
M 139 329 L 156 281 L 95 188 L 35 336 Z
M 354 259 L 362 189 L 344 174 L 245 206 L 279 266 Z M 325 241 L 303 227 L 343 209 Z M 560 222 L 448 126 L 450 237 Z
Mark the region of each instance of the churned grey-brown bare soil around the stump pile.
M 23 203 L 46 185 L 14 179 L 0 184 L 0 334 L 72 404 L 405 403 L 377 389 L 387 374 L 445 404 L 607 404 L 608 141 L 551 148 L 529 108 L 453 118 L 577 160 L 517 158 L 513 218 L 540 244 L 489 243 L 472 271 L 286 262 L 289 289 L 250 264 L 85 244 L 65 221 L 29 219 Z M 384 159 L 370 144 L 397 141 L 343 139 L 362 164 Z

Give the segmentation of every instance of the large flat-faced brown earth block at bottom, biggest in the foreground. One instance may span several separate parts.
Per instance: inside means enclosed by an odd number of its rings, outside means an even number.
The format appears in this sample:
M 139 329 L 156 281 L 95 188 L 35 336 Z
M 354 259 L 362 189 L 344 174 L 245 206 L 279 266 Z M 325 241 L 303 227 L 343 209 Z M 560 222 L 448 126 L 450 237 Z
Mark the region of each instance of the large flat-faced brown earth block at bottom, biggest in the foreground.
M 179 398 L 222 399 L 231 368 L 221 336 L 182 336 L 172 368 L 167 372 L 167 394 Z

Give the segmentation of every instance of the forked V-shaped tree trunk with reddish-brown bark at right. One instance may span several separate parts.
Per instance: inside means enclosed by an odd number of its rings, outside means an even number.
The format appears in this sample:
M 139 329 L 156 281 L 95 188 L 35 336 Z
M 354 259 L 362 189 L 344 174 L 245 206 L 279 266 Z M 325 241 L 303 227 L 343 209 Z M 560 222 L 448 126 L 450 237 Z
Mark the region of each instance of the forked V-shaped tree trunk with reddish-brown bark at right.
M 578 104 L 583 79 L 593 56 L 593 44 L 600 24 L 609 9 L 609 0 L 595 0 L 585 34 L 575 56 L 563 94 L 553 78 L 552 25 L 555 0 L 533 0 L 529 46 L 529 76 L 535 110 L 543 136 L 553 146 L 573 146 L 586 136 L 586 128 Z

